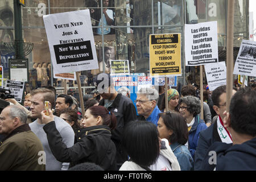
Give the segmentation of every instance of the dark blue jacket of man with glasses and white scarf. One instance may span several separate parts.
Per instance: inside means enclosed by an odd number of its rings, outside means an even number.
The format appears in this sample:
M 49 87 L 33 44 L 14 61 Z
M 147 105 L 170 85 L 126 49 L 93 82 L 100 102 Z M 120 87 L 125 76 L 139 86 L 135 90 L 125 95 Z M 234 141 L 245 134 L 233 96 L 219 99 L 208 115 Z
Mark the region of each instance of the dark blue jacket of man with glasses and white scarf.
M 217 120 L 217 117 L 214 119 L 212 125 L 210 125 L 206 130 L 200 132 L 195 153 L 195 171 L 204 170 L 201 168 L 201 162 L 205 155 L 208 155 L 207 151 L 209 147 L 212 146 L 214 142 L 221 142 L 221 138 L 217 131 L 217 121 L 215 120 Z

